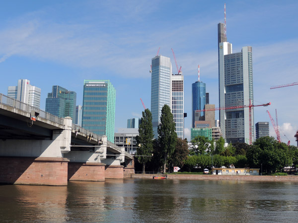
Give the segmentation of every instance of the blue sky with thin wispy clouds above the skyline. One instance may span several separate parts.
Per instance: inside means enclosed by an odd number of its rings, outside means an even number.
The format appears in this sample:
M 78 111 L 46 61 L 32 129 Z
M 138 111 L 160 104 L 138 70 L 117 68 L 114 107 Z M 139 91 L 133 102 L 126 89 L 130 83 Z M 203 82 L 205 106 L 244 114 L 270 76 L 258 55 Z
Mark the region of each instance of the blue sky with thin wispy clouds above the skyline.
M 116 89 L 115 132 L 127 119 L 141 117 L 140 98 L 150 109 L 151 58 L 171 58 L 173 72 L 182 66 L 185 80 L 185 137 L 190 139 L 191 84 L 206 83 L 210 104 L 219 107 L 217 24 L 224 22 L 222 0 L 12 0 L 0 7 L 0 93 L 18 79 L 47 94 L 60 85 L 77 94 L 82 105 L 84 79 L 109 79 Z M 283 142 L 298 130 L 298 1 L 229 0 L 226 35 L 233 53 L 253 52 L 254 122 L 270 122 L 278 112 Z M 219 119 L 218 112 L 216 119 Z

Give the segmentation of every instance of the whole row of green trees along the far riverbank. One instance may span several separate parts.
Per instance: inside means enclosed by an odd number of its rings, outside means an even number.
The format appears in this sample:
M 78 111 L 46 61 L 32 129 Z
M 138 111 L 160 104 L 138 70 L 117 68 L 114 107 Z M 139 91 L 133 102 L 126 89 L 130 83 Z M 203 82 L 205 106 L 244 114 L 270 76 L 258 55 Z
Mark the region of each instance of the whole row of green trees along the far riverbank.
M 136 157 L 142 164 L 143 173 L 172 170 L 197 171 L 212 167 L 262 168 L 263 172 L 280 171 L 283 167 L 298 167 L 298 148 L 287 146 L 273 137 L 261 137 L 252 145 L 234 143 L 224 146 L 224 138 L 217 142 L 208 137 L 197 136 L 188 145 L 187 139 L 177 138 L 175 123 L 169 106 L 161 110 L 157 127 L 158 138 L 153 139 L 152 115 L 149 109 L 142 113 L 137 136 Z

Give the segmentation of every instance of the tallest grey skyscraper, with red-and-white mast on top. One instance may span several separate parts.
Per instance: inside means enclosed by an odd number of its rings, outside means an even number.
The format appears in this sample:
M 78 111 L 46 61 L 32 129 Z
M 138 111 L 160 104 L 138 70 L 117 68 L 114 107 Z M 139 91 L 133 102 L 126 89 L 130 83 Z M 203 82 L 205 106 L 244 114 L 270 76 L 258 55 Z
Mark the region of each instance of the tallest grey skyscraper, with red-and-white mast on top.
M 219 47 L 219 105 L 220 107 L 253 104 L 252 48 L 242 47 L 232 53 L 227 42 L 224 24 L 218 24 Z M 251 109 L 252 141 L 254 141 L 254 115 Z M 227 143 L 249 139 L 249 109 L 220 110 L 221 132 Z

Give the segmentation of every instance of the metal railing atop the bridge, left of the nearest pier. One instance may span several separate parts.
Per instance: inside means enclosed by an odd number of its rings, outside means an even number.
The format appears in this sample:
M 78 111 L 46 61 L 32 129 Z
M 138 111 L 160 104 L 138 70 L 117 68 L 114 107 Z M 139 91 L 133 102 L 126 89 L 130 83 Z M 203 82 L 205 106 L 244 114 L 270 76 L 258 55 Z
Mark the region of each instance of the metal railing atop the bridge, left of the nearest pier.
M 63 124 L 63 119 L 62 118 L 57 117 L 53 114 L 50 114 L 49 112 L 42 111 L 39 108 L 30 106 L 26 103 L 23 103 L 23 102 L 20 102 L 18 100 L 15 100 L 13 98 L 10 98 L 10 97 L 8 97 L 6 95 L 3 95 L 1 93 L 0 93 L 0 104 L 4 104 L 4 105 L 10 106 L 12 108 L 19 109 L 19 110 L 22 110 L 22 111 L 26 111 L 26 112 L 29 112 L 29 113 L 31 111 L 36 111 L 36 112 L 39 113 L 39 117 L 45 118 L 45 119 L 50 120 L 50 121 L 57 122 L 59 124 Z

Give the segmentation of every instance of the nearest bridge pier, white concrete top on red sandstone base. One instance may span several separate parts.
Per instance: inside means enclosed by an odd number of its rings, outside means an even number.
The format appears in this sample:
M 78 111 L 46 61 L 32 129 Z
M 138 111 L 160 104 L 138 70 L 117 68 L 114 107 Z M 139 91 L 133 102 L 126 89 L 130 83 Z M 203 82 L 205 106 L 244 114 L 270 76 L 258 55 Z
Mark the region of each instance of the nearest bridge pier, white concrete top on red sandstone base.
M 0 140 L 0 183 L 67 185 L 72 119 L 64 118 L 65 129 L 53 130 L 52 139 Z

